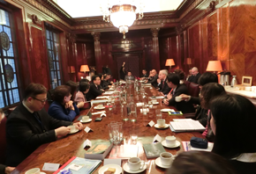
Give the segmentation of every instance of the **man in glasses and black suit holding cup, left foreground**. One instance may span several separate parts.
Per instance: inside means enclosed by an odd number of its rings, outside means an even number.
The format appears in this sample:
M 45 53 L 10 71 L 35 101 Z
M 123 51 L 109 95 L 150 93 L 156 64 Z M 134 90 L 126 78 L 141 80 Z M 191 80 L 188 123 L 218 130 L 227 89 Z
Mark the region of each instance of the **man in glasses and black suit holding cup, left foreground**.
M 56 120 L 45 111 L 47 89 L 40 83 L 30 83 L 25 90 L 23 101 L 8 116 L 6 141 L 8 166 L 17 166 L 42 144 L 56 141 L 71 131 L 70 125 L 79 130 L 80 122 Z

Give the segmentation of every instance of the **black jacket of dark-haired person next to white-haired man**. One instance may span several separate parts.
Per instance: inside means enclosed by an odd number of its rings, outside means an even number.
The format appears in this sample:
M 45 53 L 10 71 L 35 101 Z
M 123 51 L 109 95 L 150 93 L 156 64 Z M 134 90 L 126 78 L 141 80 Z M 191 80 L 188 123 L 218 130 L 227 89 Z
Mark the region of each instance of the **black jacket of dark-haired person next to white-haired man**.
M 174 93 L 173 93 L 174 92 Z M 169 105 L 176 107 L 178 111 L 183 113 L 195 112 L 195 109 L 190 101 L 176 102 L 175 98 L 181 94 L 188 94 L 185 84 L 178 84 L 175 91 L 171 91 L 172 98 L 169 100 Z

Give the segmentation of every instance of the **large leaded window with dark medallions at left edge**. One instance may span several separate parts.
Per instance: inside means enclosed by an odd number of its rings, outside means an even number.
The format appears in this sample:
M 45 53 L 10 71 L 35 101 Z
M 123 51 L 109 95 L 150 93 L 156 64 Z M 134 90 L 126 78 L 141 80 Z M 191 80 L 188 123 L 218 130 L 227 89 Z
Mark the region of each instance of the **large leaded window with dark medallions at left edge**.
M 11 13 L 0 9 L 0 107 L 19 103 Z

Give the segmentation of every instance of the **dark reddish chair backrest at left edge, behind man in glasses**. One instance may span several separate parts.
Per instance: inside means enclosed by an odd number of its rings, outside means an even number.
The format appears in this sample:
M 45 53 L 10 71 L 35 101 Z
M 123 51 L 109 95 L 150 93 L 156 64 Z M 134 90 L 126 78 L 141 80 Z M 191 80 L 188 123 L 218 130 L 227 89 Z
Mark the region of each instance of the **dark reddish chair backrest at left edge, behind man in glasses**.
M 6 132 L 5 132 L 5 125 L 6 125 L 7 118 L 1 121 L 0 124 L 0 163 L 5 163 L 6 158 Z

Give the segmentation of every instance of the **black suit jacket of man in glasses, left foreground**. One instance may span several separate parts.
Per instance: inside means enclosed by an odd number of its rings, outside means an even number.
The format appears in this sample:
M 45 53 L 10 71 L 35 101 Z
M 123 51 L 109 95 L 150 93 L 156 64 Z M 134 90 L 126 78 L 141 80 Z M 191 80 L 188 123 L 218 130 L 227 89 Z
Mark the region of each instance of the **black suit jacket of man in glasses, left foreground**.
M 21 103 L 11 112 L 6 122 L 7 158 L 6 164 L 15 167 L 44 143 L 56 141 L 55 130 L 67 127 L 70 121 L 56 120 L 43 108 L 37 112 L 41 124 L 34 114 Z

